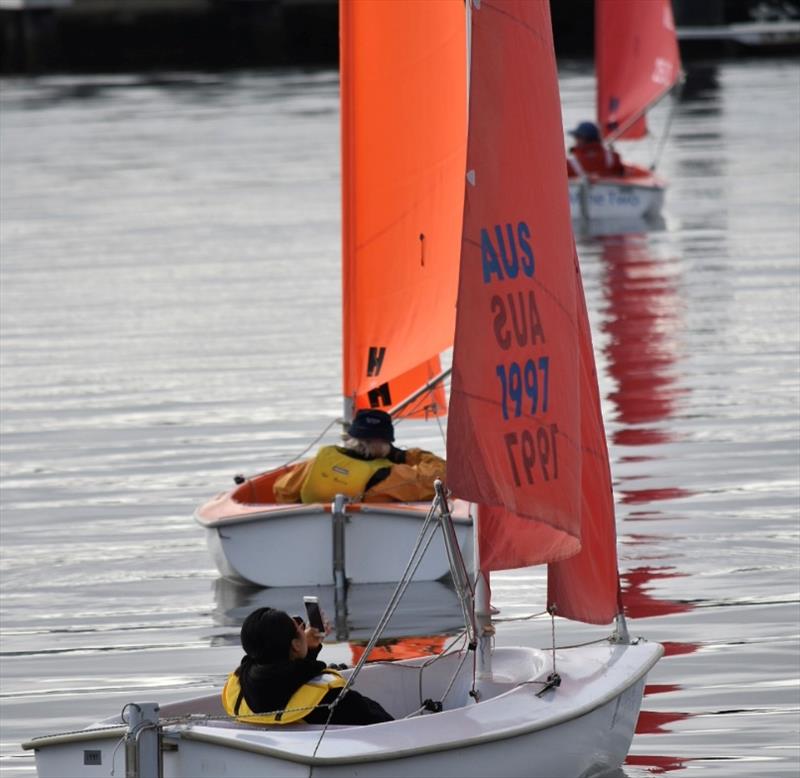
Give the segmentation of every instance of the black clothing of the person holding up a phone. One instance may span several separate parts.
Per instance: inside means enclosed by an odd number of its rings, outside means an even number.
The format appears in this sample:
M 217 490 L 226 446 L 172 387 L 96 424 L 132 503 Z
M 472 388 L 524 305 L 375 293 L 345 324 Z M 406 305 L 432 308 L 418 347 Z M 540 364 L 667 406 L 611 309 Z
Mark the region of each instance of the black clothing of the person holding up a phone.
M 244 699 L 253 713 L 283 710 L 289 698 L 307 681 L 325 670 L 325 663 L 317 660 L 321 646 L 309 649 L 305 659 L 295 659 L 276 664 L 260 664 L 251 657 L 242 658 L 236 670 Z M 331 689 L 320 707 L 303 718 L 309 724 L 324 724 L 330 709 L 322 707 L 335 700 L 341 689 Z M 333 709 L 331 724 L 378 724 L 392 721 L 392 717 L 375 700 L 350 689 Z

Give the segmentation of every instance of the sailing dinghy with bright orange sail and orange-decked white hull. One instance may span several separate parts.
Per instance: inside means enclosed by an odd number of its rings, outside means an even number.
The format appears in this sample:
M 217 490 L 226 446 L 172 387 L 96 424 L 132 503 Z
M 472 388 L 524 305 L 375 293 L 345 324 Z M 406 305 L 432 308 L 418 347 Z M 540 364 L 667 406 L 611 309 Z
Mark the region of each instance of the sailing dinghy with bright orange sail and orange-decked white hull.
M 397 408 L 441 374 L 453 344 L 466 154 L 463 10 L 401 4 L 382 27 L 382 10 L 369 6 L 384 3 L 364 5 L 341 31 L 345 423 L 357 409 Z M 445 412 L 439 385 L 403 416 Z M 273 484 L 283 472 L 239 478 L 195 511 L 224 577 L 270 587 L 400 578 L 428 503 L 281 504 Z M 456 515 L 467 544 L 468 506 Z M 431 553 L 417 579 L 447 571 L 444 553 Z

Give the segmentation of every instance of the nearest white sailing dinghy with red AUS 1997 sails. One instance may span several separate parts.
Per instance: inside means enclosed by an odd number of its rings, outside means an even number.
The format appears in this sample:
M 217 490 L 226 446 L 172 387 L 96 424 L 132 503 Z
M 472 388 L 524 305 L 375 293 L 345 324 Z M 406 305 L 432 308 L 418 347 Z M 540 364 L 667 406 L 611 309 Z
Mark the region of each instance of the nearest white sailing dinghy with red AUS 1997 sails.
M 452 3 L 341 3 L 342 29 L 411 23 Z M 378 18 L 380 17 L 380 19 Z M 465 20 L 462 18 L 462 23 Z M 365 665 L 409 583 L 401 578 L 370 644 L 345 675 L 394 721 L 257 726 L 219 695 L 126 706 L 78 732 L 36 738 L 41 778 L 176 776 L 526 776 L 575 778 L 619 767 L 645 679 L 662 654 L 628 636 L 591 335 L 571 232 L 549 5 L 472 0 L 469 133 L 448 481 L 426 525 L 440 527 L 465 637 L 436 657 Z M 378 34 L 376 29 L 376 34 Z M 391 34 L 390 32 L 391 31 Z M 420 34 L 427 31 L 419 29 Z M 525 99 L 520 99 L 524 95 Z M 467 570 L 448 489 L 477 504 Z M 415 553 L 424 551 L 423 528 Z M 496 647 L 489 576 L 548 565 L 547 610 L 610 637 L 559 647 Z M 560 619 L 559 619 L 560 622 Z M 346 690 L 342 692 L 346 694 Z M 121 747 L 124 743 L 124 748 Z M 115 764 L 116 763 L 116 764 Z

